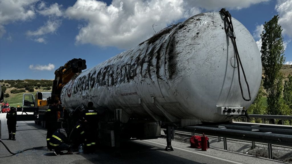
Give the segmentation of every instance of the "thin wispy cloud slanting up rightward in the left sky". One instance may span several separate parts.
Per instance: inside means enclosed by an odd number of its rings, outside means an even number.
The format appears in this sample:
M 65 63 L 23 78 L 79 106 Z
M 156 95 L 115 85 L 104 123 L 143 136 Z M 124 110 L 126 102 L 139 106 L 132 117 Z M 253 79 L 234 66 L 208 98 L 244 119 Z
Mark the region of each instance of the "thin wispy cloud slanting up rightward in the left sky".
M 54 33 L 61 25 L 61 20 L 48 20 L 44 26 L 36 31 L 27 31 L 28 36 L 40 36 L 48 33 Z

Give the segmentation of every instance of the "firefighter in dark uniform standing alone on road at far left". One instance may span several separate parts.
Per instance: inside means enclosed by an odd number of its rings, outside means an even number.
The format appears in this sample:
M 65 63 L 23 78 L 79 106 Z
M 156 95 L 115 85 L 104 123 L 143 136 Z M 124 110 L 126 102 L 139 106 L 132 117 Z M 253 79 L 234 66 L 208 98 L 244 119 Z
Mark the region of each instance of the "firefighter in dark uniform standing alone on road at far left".
M 10 108 L 10 111 L 6 114 L 7 118 L 7 127 L 8 127 L 8 133 L 9 133 L 9 138 L 12 140 L 15 139 L 15 133 L 16 133 L 16 111 L 14 107 Z

